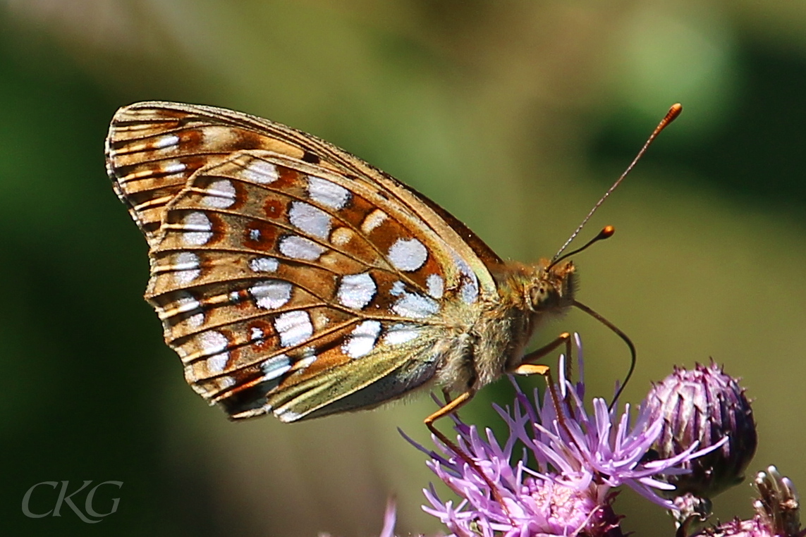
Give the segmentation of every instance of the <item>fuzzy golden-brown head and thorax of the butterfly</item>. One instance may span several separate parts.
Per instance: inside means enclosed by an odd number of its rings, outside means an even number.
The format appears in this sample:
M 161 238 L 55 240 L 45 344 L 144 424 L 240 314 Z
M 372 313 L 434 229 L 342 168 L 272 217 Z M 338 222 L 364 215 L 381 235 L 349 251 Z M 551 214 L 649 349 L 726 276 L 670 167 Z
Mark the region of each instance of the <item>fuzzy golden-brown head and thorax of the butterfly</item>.
M 572 262 L 510 262 L 496 267 L 492 275 L 498 297 L 484 304 L 461 356 L 447 356 L 443 362 L 440 380 L 450 390 L 480 390 L 515 370 L 535 328 L 573 304 Z

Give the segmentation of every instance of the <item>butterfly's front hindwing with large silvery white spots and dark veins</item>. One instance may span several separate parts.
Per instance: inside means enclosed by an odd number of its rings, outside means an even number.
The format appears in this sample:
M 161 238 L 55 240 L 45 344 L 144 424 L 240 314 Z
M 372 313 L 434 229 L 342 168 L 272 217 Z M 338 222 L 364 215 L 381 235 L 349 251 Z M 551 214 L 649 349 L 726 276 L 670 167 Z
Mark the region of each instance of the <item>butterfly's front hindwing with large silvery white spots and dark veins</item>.
M 289 419 L 396 370 L 414 373 L 373 392 L 376 403 L 433 376 L 415 366 L 434 364 L 426 341 L 442 305 L 479 294 L 456 258 L 368 184 L 240 151 L 197 171 L 167 205 L 147 298 L 197 391 L 236 416 L 282 402 Z M 255 408 L 269 392 L 276 401 Z

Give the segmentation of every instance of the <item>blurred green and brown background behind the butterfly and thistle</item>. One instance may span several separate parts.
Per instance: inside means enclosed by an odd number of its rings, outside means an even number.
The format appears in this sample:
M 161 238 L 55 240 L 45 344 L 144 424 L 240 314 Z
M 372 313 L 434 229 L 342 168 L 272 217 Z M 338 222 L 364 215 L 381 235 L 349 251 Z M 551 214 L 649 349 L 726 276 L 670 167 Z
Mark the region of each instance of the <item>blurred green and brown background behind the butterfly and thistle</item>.
M 505 258 L 550 256 L 675 101 L 685 111 L 584 233 L 580 299 L 625 330 L 638 402 L 714 357 L 755 399 L 760 446 L 804 488 L 806 3 L 0 0 L 3 535 L 434 534 L 421 394 L 310 423 L 229 423 L 185 386 L 141 299 L 146 245 L 115 198 L 114 110 L 240 109 L 326 138 L 434 198 Z M 588 393 L 624 345 L 580 312 Z M 552 359 L 553 361 L 553 359 Z M 526 384 L 540 383 L 539 379 Z M 464 413 L 498 427 L 490 400 Z M 39 481 L 123 481 L 118 512 L 26 518 Z M 40 489 L 45 498 L 50 489 Z M 750 516 L 750 488 L 717 498 Z M 84 494 L 78 495 L 83 505 Z M 52 507 L 32 504 L 35 510 Z M 673 535 L 625 492 L 625 530 Z

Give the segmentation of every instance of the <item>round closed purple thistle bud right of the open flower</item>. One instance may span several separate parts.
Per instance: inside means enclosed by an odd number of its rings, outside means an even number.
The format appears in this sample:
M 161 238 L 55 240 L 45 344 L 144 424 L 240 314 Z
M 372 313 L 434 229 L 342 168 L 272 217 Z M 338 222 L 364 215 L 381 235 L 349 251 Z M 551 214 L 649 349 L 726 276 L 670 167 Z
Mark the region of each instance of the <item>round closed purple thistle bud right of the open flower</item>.
M 695 442 L 698 450 L 708 448 L 727 438 L 712 452 L 687 461 L 683 468 L 691 473 L 665 477 L 676 486 L 671 495 L 713 498 L 744 479 L 757 443 L 744 391 L 713 361 L 694 370 L 675 368 L 650 390 L 646 404 L 651 415 L 663 417 L 663 432 L 653 446 L 659 456 L 675 456 Z

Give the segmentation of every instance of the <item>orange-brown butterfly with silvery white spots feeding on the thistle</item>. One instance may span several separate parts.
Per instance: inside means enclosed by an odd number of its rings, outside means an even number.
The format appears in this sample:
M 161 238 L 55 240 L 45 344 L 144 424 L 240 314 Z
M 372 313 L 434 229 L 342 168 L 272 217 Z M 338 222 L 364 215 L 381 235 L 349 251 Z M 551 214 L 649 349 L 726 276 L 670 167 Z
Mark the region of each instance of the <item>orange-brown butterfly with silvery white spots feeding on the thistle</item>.
M 436 384 L 459 395 L 431 427 L 502 375 L 542 371 L 524 351 L 536 328 L 586 308 L 570 254 L 505 262 L 420 192 L 263 118 L 124 106 L 106 167 L 148 243 L 165 341 L 231 419 L 293 422 Z

